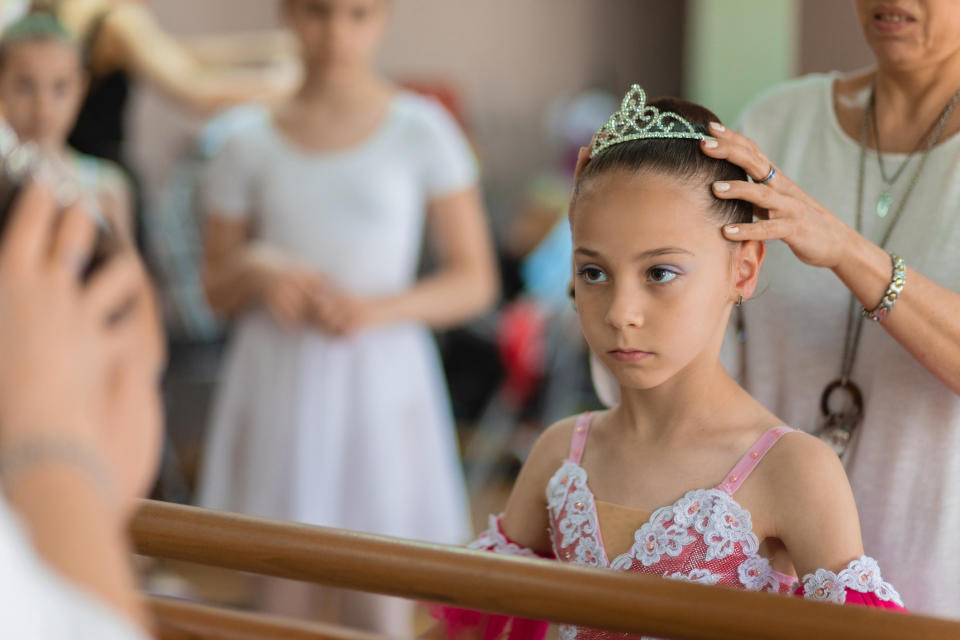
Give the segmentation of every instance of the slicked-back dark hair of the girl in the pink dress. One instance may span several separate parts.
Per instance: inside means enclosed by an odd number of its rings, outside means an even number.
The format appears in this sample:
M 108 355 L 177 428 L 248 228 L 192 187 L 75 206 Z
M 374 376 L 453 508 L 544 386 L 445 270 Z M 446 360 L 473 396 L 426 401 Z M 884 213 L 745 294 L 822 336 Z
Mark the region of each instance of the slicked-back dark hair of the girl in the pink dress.
M 706 135 L 709 135 L 707 125 L 720 122 L 706 107 L 679 98 L 658 98 L 647 104 L 661 112 L 671 111 L 679 115 Z M 632 140 L 607 147 L 584 167 L 574 189 L 574 203 L 581 186 L 600 174 L 609 171 L 650 171 L 689 182 L 691 187 L 702 190 L 721 224 L 751 222 L 752 204 L 744 200 L 721 200 L 713 195 L 711 187 L 718 180 L 746 180 L 746 172 L 732 162 L 708 157 L 699 146 L 699 140 L 656 138 Z M 573 211 L 572 206 L 570 210 Z

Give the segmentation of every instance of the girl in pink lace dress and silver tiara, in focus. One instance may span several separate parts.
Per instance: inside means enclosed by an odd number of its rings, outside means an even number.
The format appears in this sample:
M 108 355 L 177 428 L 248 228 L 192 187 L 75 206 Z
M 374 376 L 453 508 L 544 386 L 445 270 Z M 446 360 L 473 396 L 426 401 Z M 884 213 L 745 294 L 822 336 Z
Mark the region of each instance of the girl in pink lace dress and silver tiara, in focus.
M 574 299 L 620 385 L 609 411 L 539 439 L 506 512 L 471 546 L 703 584 L 900 608 L 863 555 L 837 455 L 783 426 L 718 361 L 764 245 L 724 239 L 752 205 L 716 198 L 733 164 L 708 158 L 716 116 L 634 86 L 594 138 L 570 205 Z M 796 576 L 802 576 L 797 585 Z M 449 636 L 507 619 L 440 607 Z M 540 637 L 543 625 L 514 625 Z M 561 628 L 561 638 L 604 632 Z

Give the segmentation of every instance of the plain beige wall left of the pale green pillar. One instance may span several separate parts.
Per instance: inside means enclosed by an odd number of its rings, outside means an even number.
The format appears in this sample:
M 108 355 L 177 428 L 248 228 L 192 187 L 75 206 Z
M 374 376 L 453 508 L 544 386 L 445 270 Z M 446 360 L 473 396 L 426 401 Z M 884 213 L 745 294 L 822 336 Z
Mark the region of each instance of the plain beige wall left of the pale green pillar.
M 277 23 L 277 0 L 155 0 L 174 33 Z M 617 93 L 642 82 L 681 88 L 682 1 L 396 0 L 381 66 L 397 78 L 451 83 L 501 195 L 549 162 L 543 116 L 552 100 L 590 86 Z M 155 187 L 197 122 L 143 91 L 132 113 L 132 151 Z

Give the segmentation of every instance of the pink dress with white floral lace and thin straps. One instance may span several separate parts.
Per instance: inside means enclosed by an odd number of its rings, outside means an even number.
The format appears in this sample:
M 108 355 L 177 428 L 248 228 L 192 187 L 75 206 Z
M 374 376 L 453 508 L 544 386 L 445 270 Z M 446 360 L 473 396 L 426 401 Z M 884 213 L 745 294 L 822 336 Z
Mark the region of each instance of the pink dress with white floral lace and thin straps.
M 764 433 L 712 489 L 689 491 L 673 504 L 657 509 L 634 534 L 634 544 L 625 553 L 608 558 L 600 533 L 596 501 L 580 466 L 590 414 L 583 414 L 574 427 L 570 455 L 547 485 L 547 509 L 553 557 L 561 562 L 633 571 L 686 580 L 700 584 L 726 585 L 749 591 L 794 593 L 808 599 L 837 604 L 861 604 L 903 609 L 896 590 L 880 576 L 872 558 L 862 556 L 839 573 L 819 569 L 798 582 L 793 576 L 775 571 L 759 555 L 760 541 L 753 533 L 750 512 L 740 506 L 734 495 L 764 455 L 792 429 L 776 427 Z M 499 518 L 491 518 L 491 527 L 472 549 L 535 557 L 531 550 L 503 533 Z M 511 619 L 436 607 L 434 616 L 447 623 L 448 635 L 456 636 L 466 628 L 484 628 L 488 640 L 498 637 Z M 510 638 L 542 638 L 545 623 L 513 620 Z M 561 640 L 593 640 L 626 637 L 625 634 L 572 625 L 560 627 Z

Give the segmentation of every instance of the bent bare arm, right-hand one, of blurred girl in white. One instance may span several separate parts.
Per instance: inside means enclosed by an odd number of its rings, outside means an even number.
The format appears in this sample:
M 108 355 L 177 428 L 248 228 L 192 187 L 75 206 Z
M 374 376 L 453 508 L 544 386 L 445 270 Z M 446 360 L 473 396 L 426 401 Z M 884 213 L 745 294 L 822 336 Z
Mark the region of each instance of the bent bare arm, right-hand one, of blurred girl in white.
M 399 322 L 446 328 L 493 305 L 499 291 L 497 268 L 478 189 L 431 202 L 427 221 L 440 260 L 435 273 L 386 298 L 362 300 L 330 290 L 320 300 L 320 322 L 336 333 Z

